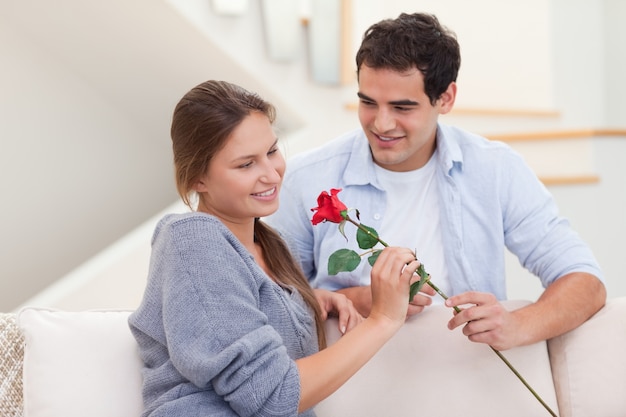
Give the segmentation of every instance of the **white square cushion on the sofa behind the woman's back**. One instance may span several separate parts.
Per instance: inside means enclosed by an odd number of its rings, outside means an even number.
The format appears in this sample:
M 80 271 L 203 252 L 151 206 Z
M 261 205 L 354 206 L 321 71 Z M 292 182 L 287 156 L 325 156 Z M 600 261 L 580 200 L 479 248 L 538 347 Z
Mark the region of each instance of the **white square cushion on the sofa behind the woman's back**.
M 141 415 L 142 363 L 129 313 L 20 311 L 24 417 Z

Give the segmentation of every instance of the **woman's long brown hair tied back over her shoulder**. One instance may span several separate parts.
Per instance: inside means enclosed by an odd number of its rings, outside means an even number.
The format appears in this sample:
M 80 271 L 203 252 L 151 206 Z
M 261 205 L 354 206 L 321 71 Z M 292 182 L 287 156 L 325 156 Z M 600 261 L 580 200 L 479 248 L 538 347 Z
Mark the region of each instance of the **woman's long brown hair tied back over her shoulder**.
M 276 119 L 276 110 L 259 95 L 225 81 L 206 81 L 191 89 L 178 102 L 172 119 L 172 149 L 176 188 L 183 202 L 193 209 L 193 186 L 224 147 L 235 128 L 252 112 Z M 254 138 L 250 138 L 254 140 Z M 326 347 L 322 312 L 313 289 L 280 235 L 260 220 L 255 221 L 255 239 L 275 282 L 295 288 L 315 316 L 320 349 Z

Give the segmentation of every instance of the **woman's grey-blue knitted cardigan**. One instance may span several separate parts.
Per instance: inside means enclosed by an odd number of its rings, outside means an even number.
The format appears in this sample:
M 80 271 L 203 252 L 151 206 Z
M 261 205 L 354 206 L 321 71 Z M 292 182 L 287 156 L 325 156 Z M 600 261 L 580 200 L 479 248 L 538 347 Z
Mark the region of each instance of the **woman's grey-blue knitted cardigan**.
M 313 317 L 215 217 L 159 222 L 129 324 L 145 364 L 144 416 L 297 415 L 294 360 L 318 350 Z

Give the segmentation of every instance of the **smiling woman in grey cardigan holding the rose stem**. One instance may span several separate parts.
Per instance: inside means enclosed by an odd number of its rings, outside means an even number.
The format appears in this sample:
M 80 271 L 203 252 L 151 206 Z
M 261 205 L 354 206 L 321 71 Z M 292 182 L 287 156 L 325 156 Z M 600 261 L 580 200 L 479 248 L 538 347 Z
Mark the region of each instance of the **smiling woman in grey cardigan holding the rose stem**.
M 144 416 L 312 416 L 404 322 L 419 266 L 410 250 L 380 255 L 363 319 L 344 296 L 311 289 L 259 220 L 276 211 L 285 170 L 274 114 L 221 81 L 176 106 L 177 188 L 197 207 L 157 225 L 144 298 L 129 319 L 145 364 Z M 325 348 L 328 314 L 345 334 Z

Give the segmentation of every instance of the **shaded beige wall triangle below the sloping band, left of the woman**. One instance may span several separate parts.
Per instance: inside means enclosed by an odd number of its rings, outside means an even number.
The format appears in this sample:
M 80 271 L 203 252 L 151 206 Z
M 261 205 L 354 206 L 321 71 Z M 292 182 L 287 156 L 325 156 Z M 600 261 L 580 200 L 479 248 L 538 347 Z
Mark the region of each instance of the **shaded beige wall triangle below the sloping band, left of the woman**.
M 175 196 L 166 131 L 151 136 L 2 18 L 0 56 L 0 309 L 7 310 Z

